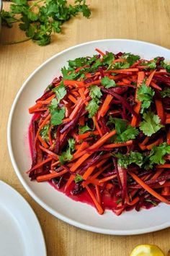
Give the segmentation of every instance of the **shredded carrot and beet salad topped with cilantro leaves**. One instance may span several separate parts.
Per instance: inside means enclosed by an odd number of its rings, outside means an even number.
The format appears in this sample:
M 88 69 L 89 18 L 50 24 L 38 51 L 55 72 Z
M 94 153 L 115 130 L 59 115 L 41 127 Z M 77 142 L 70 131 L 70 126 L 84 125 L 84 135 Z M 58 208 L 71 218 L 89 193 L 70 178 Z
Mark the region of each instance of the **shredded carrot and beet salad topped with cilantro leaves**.
M 170 65 L 96 51 L 69 60 L 29 108 L 27 173 L 99 214 L 170 204 Z

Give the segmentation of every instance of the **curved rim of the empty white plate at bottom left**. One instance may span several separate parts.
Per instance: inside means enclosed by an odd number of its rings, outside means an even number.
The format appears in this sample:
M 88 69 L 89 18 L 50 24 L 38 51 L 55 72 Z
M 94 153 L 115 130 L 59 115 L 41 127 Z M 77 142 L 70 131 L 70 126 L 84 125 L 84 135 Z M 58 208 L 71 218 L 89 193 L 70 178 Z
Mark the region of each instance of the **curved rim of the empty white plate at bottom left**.
M 44 238 L 44 235 L 43 235 L 43 232 L 42 232 L 42 228 L 40 226 L 40 221 L 38 220 L 38 218 L 35 214 L 35 211 L 32 209 L 29 202 L 27 202 L 27 200 L 25 200 L 24 197 L 19 192 L 17 192 L 16 189 L 14 189 L 14 187 L 12 187 L 9 184 L 7 184 L 6 182 L 0 180 L 0 187 L 1 186 L 4 187 L 7 190 L 7 192 L 12 193 L 13 195 L 15 195 L 16 198 L 18 200 L 20 200 L 19 203 L 22 204 L 24 206 L 24 208 L 26 208 L 27 213 L 29 213 L 29 215 L 31 215 L 35 219 L 36 229 L 38 230 L 38 233 L 40 235 L 39 239 L 41 238 L 41 241 L 42 241 L 41 249 L 42 249 L 43 255 L 40 255 L 40 256 L 47 256 L 47 248 L 46 248 L 46 244 L 45 244 L 45 238 Z M 38 239 L 38 241 L 39 241 L 39 239 Z

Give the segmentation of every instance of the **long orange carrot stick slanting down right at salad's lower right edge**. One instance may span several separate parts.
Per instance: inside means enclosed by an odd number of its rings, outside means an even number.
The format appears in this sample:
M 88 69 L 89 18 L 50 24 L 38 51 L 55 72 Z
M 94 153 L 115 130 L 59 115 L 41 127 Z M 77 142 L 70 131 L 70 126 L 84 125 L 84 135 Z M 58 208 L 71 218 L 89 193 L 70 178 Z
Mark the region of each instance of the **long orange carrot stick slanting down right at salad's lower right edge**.
M 137 182 L 138 184 L 140 184 L 141 187 L 143 187 L 143 189 L 145 189 L 146 191 L 148 191 L 151 195 L 153 195 L 153 197 L 156 197 L 158 200 L 160 200 L 161 202 L 165 202 L 166 204 L 170 204 L 169 200 L 166 200 L 166 198 L 162 197 L 161 195 L 159 195 L 156 191 L 154 191 L 153 189 L 151 189 L 151 187 L 149 187 L 145 182 L 143 182 L 142 179 L 140 179 L 138 176 L 136 176 L 133 173 L 130 173 L 130 176 L 133 177 L 133 179 L 135 180 L 135 182 Z

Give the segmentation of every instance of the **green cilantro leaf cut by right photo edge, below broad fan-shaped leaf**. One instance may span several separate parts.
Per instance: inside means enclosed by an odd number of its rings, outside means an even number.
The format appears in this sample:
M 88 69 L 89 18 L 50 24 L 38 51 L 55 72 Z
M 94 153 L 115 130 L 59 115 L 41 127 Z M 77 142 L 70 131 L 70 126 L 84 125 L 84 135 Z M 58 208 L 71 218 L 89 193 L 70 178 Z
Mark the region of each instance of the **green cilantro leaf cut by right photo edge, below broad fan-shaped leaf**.
M 151 153 L 149 154 L 149 167 L 152 168 L 153 164 L 164 164 L 166 161 L 164 156 L 166 154 L 170 154 L 170 145 L 166 142 L 162 143 L 161 145 L 153 146 Z

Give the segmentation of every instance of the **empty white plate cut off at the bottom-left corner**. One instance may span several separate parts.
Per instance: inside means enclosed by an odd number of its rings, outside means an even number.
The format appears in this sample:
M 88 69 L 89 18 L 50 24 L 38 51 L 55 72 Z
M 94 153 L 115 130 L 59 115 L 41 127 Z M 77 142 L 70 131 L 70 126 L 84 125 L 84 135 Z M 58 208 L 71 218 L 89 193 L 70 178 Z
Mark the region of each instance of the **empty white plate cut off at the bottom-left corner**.
M 30 205 L 0 181 L 0 255 L 46 256 L 40 224 Z

